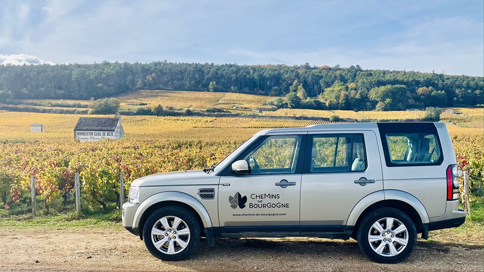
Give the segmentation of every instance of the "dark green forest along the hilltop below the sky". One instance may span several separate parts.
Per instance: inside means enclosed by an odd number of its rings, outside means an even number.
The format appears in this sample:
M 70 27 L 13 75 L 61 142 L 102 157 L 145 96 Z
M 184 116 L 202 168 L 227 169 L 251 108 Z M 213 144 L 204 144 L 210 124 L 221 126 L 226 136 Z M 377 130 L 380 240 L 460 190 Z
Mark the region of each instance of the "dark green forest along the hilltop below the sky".
M 272 96 L 293 91 L 301 102 L 289 107 L 318 109 L 399 110 L 483 104 L 483 77 L 364 70 L 359 65 L 343 68 L 308 63 L 287 66 L 166 61 L 0 65 L 3 104 L 27 98 L 104 98 L 134 89 L 232 91 Z

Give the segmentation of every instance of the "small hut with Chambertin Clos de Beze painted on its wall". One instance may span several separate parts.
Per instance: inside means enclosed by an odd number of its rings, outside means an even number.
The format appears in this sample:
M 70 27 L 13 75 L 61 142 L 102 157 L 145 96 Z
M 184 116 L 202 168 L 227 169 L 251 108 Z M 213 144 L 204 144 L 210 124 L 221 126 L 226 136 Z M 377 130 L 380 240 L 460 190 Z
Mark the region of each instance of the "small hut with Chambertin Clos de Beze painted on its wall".
M 79 117 L 74 128 L 74 138 L 81 142 L 99 141 L 102 139 L 121 139 L 124 130 L 121 126 L 121 116 L 116 113 L 114 118 Z

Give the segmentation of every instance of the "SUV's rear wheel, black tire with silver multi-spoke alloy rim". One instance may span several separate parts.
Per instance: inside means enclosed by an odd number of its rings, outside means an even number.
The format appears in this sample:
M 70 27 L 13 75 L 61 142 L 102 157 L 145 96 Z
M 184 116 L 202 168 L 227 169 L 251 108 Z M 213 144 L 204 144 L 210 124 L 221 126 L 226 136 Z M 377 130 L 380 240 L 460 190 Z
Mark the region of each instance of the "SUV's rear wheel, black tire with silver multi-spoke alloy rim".
M 392 227 L 388 229 L 387 224 Z M 411 255 L 417 243 L 417 231 L 405 212 L 395 208 L 378 208 L 363 218 L 358 227 L 357 241 L 370 260 L 397 263 Z

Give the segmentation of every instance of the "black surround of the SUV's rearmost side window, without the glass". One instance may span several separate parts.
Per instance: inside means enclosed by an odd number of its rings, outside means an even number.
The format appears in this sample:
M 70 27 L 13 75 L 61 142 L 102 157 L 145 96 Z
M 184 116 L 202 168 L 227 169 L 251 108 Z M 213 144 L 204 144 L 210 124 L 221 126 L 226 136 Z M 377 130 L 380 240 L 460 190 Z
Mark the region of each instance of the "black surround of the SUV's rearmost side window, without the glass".
M 412 167 L 412 166 L 440 166 L 444 161 L 442 144 L 440 143 L 439 131 L 432 122 L 379 122 L 378 131 L 380 134 L 381 146 L 387 167 Z M 390 156 L 387 134 L 433 134 L 436 137 L 436 147 L 440 149 L 440 157 L 435 162 L 416 162 L 409 164 L 395 164 Z

